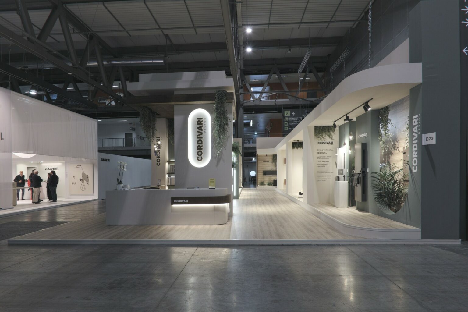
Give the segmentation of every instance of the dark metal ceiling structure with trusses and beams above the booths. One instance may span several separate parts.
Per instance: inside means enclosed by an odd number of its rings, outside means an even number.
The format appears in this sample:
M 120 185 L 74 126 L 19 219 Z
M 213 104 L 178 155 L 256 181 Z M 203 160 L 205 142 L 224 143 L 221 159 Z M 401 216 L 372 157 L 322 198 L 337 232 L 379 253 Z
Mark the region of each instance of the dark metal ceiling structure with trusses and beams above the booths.
M 368 3 L 2 0 L 0 86 L 31 86 L 38 94 L 30 96 L 88 116 L 136 116 L 138 101 L 125 81 L 138 81 L 139 73 L 224 70 L 241 104 L 241 77 L 268 78 L 274 70 L 284 84 L 282 75 L 297 75 L 307 51 L 311 77 L 322 82 L 319 73 L 342 36 L 366 22 Z

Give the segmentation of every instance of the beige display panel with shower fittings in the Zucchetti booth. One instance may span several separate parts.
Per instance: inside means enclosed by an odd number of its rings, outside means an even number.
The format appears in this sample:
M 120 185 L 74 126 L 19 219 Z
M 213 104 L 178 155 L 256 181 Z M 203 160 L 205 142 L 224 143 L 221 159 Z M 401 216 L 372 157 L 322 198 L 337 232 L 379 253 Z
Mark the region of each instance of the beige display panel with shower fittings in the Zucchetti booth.
M 93 164 L 68 165 L 68 190 L 70 195 L 93 194 Z

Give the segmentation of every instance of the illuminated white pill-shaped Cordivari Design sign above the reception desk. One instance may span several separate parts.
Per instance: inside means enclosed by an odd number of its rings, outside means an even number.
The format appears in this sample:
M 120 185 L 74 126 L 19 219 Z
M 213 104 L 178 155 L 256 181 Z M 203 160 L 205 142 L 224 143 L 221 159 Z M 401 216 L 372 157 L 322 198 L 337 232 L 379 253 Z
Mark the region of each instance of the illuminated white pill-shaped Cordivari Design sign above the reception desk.
M 205 109 L 194 109 L 189 115 L 189 161 L 205 167 L 211 159 L 211 115 Z

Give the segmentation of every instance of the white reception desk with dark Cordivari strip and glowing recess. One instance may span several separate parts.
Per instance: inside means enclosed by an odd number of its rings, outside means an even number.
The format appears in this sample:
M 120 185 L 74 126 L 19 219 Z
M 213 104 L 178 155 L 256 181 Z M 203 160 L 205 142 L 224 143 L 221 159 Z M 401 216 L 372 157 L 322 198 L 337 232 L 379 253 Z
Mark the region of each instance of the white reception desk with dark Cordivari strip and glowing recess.
M 106 191 L 107 225 L 219 225 L 227 222 L 227 189 Z

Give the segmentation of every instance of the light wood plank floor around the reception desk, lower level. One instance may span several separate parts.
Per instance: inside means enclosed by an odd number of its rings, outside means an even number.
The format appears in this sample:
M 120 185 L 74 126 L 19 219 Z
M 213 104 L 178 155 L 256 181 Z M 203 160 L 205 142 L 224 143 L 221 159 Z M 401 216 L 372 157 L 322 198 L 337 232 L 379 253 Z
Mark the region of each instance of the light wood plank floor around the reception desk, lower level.
M 76 239 L 357 239 L 338 232 L 274 189 L 243 189 L 225 225 L 106 225 L 105 214 L 15 240 Z

